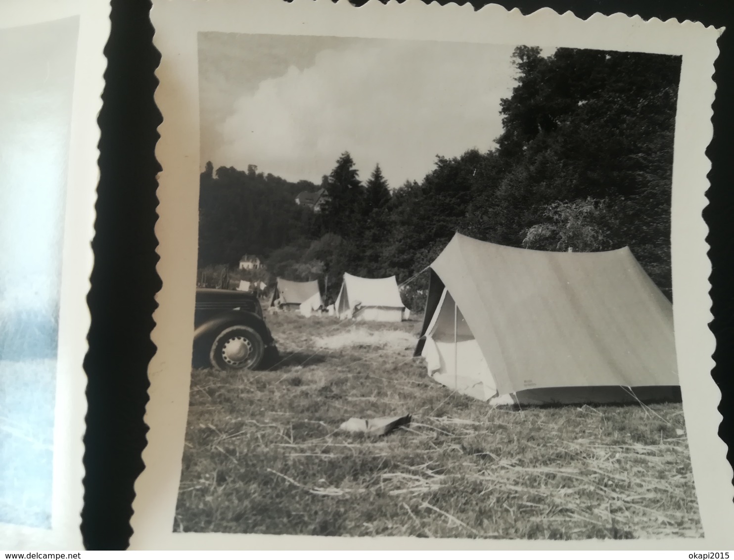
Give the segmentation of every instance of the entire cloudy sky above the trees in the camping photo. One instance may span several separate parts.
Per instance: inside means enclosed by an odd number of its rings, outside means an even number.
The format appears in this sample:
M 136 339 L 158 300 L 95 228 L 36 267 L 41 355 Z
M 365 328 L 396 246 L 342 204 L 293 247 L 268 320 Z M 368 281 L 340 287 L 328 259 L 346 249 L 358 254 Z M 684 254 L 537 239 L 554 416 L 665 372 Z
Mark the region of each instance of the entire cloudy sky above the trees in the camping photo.
M 360 178 L 420 181 L 436 154 L 487 150 L 513 46 L 199 34 L 201 164 L 318 183 L 348 150 Z

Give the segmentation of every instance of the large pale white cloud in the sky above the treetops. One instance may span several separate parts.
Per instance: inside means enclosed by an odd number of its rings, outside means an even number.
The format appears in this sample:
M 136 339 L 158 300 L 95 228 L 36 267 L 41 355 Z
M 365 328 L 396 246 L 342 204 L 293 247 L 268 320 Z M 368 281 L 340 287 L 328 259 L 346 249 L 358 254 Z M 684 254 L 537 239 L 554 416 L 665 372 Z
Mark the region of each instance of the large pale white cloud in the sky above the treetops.
M 514 85 L 512 47 L 375 41 L 321 51 L 236 101 L 218 128 L 215 166 L 256 164 L 319 181 L 349 150 L 366 179 L 420 181 L 435 155 L 486 150 L 501 132 L 499 100 Z

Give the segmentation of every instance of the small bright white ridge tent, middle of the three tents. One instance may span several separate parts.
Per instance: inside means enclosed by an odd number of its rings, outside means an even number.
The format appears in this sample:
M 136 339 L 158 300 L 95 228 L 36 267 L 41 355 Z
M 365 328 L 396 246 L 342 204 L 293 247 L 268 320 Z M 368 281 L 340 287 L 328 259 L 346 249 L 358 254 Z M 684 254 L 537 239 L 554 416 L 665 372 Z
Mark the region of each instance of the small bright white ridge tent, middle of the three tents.
M 345 273 L 335 310 L 340 319 L 402 321 L 405 306 L 394 276 L 360 278 Z

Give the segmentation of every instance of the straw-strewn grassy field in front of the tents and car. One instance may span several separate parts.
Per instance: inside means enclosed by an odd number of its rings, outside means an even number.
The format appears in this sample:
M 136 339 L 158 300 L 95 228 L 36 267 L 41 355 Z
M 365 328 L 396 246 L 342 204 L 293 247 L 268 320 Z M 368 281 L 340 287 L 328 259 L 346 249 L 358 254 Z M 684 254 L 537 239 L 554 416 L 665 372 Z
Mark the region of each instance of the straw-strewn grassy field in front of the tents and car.
M 418 321 L 268 324 L 271 370 L 193 371 L 175 531 L 702 536 L 680 404 L 492 408 L 426 377 Z M 338 432 L 408 412 L 386 437 Z

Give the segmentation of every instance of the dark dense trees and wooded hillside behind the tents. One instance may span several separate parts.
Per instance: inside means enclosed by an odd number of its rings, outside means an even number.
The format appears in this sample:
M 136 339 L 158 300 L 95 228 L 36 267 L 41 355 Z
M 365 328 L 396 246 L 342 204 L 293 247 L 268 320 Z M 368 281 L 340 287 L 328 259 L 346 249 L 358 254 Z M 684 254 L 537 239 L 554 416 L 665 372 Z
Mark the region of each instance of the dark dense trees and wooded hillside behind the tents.
M 200 263 L 268 258 L 293 280 L 424 269 L 454 232 L 514 247 L 597 251 L 628 245 L 668 295 L 673 133 L 680 57 L 518 47 L 517 85 L 488 152 L 437 156 L 422 181 L 390 190 L 377 166 L 363 185 L 344 152 L 321 187 L 320 213 L 288 183 L 208 165 L 201 176 Z M 388 134 L 388 132 L 386 132 Z M 411 282 L 413 294 L 426 275 Z M 419 299 L 418 295 L 415 295 Z M 410 305 L 410 304 L 409 304 Z

